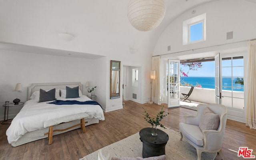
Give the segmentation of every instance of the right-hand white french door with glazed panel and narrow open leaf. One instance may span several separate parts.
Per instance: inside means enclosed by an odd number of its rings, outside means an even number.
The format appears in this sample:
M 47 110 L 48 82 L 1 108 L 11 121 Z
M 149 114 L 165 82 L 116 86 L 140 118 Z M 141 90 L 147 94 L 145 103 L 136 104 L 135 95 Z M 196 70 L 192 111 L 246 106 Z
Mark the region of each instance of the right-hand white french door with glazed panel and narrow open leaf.
M 244 122 L 244 55 L 217 55 L 215 68 L 216 103 L 228 108 L 228 118 Z

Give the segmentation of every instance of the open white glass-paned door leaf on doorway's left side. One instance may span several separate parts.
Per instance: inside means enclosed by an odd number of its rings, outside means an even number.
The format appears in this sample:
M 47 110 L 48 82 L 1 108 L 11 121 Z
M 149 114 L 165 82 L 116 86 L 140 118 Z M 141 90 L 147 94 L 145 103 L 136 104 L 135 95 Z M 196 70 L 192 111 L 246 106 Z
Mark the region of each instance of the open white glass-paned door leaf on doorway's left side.
M 168 60 L 168 108 L 180 106 L 180 61 Z

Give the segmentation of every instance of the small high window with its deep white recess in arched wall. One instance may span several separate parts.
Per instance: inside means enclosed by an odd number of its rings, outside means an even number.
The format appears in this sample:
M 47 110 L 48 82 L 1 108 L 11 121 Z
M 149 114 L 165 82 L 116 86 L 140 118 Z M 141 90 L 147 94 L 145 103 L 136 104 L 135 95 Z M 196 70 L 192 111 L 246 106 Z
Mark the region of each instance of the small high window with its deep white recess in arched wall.
M 206 13 L 183 22 L 183 45 L 206 40 Z

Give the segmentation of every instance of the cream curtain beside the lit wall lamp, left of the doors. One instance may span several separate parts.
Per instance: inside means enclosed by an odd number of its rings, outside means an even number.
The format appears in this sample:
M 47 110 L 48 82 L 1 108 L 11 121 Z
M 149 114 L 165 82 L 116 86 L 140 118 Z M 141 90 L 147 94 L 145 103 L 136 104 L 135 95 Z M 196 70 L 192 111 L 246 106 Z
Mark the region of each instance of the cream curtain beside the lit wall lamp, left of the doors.
M 160 56 L 152 57 L 152 70 L 156 71 L 156 79 L 152 81 L 152 102 L 160 102 Z

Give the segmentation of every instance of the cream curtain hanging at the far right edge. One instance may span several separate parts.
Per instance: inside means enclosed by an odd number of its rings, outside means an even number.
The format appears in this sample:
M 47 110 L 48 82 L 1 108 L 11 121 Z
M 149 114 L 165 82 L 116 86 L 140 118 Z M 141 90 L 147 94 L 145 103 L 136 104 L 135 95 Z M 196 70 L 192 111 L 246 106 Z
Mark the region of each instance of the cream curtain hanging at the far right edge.
M 256 129 L 256 40 L 248 42 L 246 126 Z

